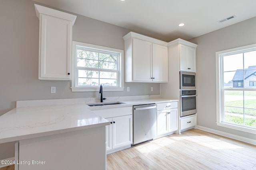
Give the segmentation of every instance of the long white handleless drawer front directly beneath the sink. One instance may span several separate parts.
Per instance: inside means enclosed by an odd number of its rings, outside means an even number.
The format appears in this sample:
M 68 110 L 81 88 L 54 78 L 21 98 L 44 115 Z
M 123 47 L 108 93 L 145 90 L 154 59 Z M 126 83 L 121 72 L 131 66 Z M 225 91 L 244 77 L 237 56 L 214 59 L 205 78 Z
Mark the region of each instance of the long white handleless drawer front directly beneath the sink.
M 92 110 L 96 115 L 104 118 L 132 115 L 132 107 L 118 107 L 112 109 L 102 108 L 101 110 Z

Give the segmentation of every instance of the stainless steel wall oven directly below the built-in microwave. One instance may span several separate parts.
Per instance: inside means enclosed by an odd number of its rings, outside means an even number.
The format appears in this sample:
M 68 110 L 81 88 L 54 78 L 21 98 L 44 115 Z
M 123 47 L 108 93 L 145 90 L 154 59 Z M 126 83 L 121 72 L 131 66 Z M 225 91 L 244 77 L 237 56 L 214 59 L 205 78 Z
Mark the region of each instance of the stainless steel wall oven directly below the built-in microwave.
M 196 114 L 196 90 L 180 90 L 180 117 Z

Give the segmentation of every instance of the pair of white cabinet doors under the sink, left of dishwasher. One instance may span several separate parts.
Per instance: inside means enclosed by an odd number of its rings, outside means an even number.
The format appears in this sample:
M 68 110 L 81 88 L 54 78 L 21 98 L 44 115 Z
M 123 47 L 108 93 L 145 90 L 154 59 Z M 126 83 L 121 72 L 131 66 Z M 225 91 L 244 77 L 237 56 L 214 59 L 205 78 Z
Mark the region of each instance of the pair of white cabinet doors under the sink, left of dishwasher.
M 132 115 L 108 118 L 106 126 L 106 150 L 112 150 L 132 143 Z

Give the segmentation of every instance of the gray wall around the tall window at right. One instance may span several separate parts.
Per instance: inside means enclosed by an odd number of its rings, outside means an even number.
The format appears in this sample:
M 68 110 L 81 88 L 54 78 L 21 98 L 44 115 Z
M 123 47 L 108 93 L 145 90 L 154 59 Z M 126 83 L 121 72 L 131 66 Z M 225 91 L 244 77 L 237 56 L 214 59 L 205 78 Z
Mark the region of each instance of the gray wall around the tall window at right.
M 197 47 L 197 124 L 210 129 L 256 139 L 256 135 L 216 125 L 215 52 L 256 44 L 256 17 L 190 39 Z

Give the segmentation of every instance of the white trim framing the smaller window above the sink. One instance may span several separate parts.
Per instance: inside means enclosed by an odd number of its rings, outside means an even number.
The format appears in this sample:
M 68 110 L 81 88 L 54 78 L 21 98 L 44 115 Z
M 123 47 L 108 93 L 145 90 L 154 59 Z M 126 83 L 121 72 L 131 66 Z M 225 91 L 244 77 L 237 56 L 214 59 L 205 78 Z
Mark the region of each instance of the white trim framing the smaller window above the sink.
M 110 51 L 114 53 L 119 53 L 119 87 L 105 86 L 104 91 L 124 91 L 124 50 L 114 49 L 110 47 L 103 47 L 99 45 L 93 45 L 88 43 L 82 43 L 78 41 L 72 41 L 72 60 L 71 60 L 71 89 L 72 92 L 95 92 L 99 90 L 99 86 L 92 87 L 77 87 L 76 86 L 76 46 L 84 46 L 87 48 L 98 49 L 99 51 Z

